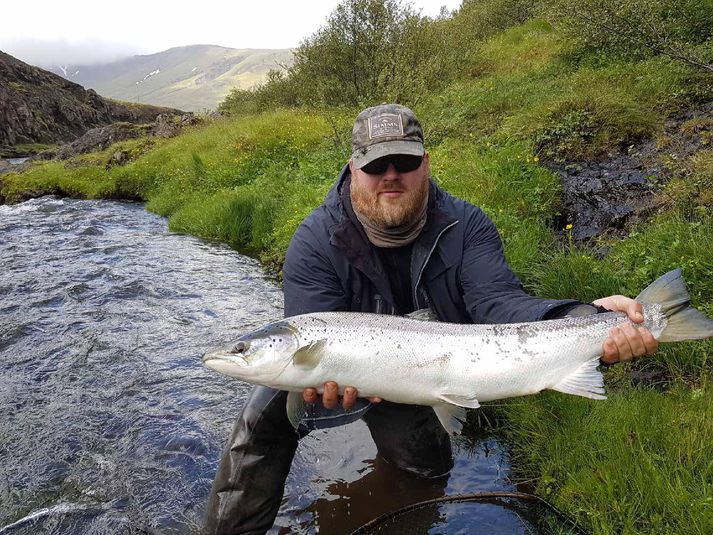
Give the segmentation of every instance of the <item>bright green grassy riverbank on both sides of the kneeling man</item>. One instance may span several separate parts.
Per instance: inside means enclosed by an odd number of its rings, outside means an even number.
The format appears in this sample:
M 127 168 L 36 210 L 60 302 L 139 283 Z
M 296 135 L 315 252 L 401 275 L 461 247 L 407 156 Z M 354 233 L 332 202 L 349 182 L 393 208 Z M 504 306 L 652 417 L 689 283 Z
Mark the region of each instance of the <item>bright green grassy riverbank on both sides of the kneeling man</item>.
M 683 123 L 705 141 L 684 157 L 667 157 L 664 129 L 667 117 L 710 102 L 709 75 L 662 56 L 575 52 L 542 20 L 479 42 L 468 76 L 413 105 L 434 177 L 494 219 L 509 262 L 537 295 L 636 295 L 682 267 L 694 305 L 713 316 L 713 121 Z M 0 194 L 142 199 L 172 230 L 279 269 L 292 232 L 349 157 L 357 111 L 216 119 L 170 140 L 35 164 L 0 178 Z M 543 162 L 605 157 L 646 138 L 657 140 L 671 177 L 657 184 L 657 213 L 625 239 L 587 247 L 553 228 L 561 187 Z M 107 168 L 118 148 L 134 160 Z M 594 533 L 712 533 L 712 369 L 713 342 L 677 344 L 612 367 L 608 401 L 545 393 L 498 404 L 519 474 Z

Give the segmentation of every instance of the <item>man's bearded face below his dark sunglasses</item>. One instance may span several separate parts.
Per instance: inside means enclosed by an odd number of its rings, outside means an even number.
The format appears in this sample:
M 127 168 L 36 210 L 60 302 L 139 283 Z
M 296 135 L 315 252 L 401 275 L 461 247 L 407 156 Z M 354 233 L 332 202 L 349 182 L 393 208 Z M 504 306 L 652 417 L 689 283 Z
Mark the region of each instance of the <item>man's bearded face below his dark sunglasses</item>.
M 355 169 L 351 161 L 349 169 L 355 210 L 383 228 L 413 221 L 428 195 L 428 153 L 423 155 L 421 165 L 413 171 L 399 172 L 390 163 L 383 173 L 369 174 Z

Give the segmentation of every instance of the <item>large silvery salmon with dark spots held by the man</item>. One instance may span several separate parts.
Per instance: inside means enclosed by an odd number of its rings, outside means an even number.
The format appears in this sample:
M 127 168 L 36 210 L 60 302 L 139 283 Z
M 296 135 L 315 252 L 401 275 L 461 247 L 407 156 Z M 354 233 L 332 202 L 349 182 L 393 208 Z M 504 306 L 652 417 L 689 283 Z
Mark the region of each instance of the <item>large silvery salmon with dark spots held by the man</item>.
M 671 271 L 636 298 L 644 323 L 662 342 L 713 337 L 713 320 L 690 306 L 681 271 Z M 598 370 L 621 312 L 534 323 L 472 325 L 356 312 L 322 312 L 270 323 L 230 349 L 203 357 L 207 366 L 250 383 L 290 392 L 295 427 L 302 390 L 336 381 L 364 397 L 430 405 L 449 433 L 464 408 L 482 401 L 557 390 L 605 399 Z

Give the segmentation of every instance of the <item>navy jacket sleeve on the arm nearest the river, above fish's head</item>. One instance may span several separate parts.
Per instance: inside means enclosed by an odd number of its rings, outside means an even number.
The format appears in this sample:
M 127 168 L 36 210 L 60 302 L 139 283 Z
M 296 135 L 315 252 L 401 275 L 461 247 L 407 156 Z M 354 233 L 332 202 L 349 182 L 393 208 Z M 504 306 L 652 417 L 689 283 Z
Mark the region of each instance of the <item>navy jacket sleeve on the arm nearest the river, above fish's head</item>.
M 282 270 L 285 317 L 348 310 L 344 286 L 323 248 L 323 240 L 305 224 L 300 225 L 287 248 Z

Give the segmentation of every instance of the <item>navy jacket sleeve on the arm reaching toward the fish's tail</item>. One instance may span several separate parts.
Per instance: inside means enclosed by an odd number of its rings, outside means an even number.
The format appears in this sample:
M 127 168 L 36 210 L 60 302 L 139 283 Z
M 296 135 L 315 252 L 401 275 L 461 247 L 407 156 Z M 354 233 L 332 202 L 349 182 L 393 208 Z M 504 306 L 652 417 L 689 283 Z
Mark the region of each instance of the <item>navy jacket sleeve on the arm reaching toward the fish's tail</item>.
M 466 220 L 461 265 L 463 299 L 474 323 L 537 321 L 574 300 L 527 294 L 508 266 L 497 229 L 479 208 Z

